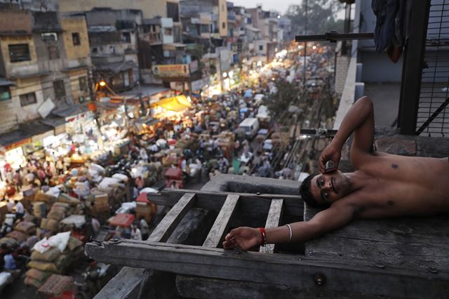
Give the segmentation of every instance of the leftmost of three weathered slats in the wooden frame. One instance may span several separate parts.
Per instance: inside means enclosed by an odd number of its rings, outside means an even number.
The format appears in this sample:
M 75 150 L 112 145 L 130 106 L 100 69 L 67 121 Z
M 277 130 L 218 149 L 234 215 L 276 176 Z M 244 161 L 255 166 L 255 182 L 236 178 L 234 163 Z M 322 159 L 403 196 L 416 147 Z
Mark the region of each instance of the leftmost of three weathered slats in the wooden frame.
M 164 242 L 167 241 L 170 234 L 175 230 L 176 226 L 194 206 L 196 195 L 193 193 L 186 193 L 182 195 L 181 199 L 171 208 L 167 215 L 161 220 L 159 225 L 154 229 L 147 241 L 149 242 Z

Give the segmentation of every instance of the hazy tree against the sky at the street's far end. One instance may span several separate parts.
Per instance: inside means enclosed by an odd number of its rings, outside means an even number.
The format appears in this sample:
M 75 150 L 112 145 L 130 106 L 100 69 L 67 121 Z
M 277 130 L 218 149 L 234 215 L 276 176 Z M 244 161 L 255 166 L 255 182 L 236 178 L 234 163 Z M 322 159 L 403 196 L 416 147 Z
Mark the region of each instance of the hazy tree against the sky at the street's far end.
M 325 32 L 343 32 L 343 20 L 336 20 L 337 13 L 344 8 L 343 4 L 334 0 L 306 0 L 301 4 L 290 5 L 287 16 L 292 22 L 295 34 L 323 34 Z

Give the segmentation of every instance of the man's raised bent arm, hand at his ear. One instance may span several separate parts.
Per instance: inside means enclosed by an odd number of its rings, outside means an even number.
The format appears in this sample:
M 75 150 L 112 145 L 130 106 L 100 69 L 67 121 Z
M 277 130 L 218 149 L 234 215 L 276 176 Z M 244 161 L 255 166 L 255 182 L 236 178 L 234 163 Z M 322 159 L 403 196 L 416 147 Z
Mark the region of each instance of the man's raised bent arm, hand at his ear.
M 344 142 L 354 133 L 351 147 L 351 160 L 356 166 L 361 155 L 370 153 L 374 140 L 374 108 L 370 98 L 359 98 L 344 117 L 337 134 L 319 158 L 319 171 L 324 172 L 327 161 L 335 166 L 340 162 Z

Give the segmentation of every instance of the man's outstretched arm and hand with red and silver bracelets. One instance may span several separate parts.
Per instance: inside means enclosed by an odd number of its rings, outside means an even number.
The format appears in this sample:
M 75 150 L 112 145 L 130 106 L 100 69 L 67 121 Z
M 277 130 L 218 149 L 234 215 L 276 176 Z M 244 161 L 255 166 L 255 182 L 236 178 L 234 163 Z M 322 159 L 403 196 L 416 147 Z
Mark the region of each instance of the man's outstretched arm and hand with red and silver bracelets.
M 309 221 L 290 224 L 291 242 L 307 241 L 337 230 L 351 222 L 356 211 L 356 206 L 353 204 L 335 202 L 330 208 L 316 214 Z M 290 230 L 286 225 L 267 228 L 265 232 L 269 244 L 288 243 L 290 239 Z M 238 227 L 227 234 L 223 247 L 230 249 L 239 246 L 243 250 L 248 250 L 261 244 L 262 238 L 262 233 L 257 228 Z

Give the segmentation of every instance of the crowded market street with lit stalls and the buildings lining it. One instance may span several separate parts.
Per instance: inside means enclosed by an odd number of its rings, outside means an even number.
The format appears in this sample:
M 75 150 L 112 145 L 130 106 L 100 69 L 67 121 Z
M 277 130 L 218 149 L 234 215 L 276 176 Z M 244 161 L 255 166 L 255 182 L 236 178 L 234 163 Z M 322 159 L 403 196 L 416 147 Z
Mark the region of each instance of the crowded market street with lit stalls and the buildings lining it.
M 295 42 L 290 20 L 260 6 L 224 1 L 220 25 L 194 1 L 164 0 L 159 15 L 145 1 L 0 1 L 1 298 L 95 297 L 121 267 L 86 244 L 147 240 L 167 192 L 317 171 L 328 140 L 315 132 L 338 106 L 335 45 Z

